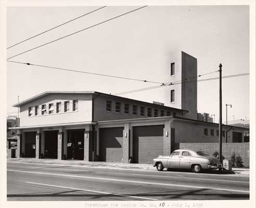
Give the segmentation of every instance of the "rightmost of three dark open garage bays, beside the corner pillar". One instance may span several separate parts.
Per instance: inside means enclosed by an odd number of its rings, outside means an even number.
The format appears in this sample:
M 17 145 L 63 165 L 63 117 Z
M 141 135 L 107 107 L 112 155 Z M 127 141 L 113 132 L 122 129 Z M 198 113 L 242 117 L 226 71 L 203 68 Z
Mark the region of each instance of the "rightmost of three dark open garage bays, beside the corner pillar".
M 67 159 L 84 159 L 84 129 L 68 131 Z

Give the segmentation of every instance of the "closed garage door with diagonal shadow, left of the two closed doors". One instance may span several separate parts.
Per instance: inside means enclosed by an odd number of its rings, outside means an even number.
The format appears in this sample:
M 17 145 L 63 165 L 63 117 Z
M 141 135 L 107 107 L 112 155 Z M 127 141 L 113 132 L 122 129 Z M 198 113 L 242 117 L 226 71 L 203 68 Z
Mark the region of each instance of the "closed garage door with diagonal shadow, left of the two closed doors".
M 99 128 L 99 160 L 121 162 L 123 158 L 123 127 Z

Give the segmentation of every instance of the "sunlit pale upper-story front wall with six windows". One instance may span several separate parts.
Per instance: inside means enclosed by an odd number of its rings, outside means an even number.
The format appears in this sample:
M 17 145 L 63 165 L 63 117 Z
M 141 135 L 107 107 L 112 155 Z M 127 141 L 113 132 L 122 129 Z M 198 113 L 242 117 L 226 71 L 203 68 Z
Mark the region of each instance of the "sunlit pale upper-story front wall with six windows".
M 78 99 L 78 110 L 72 110 L 72 100 Z M 69 102 L 69 111 L 64 112 L 64 101 Z M 56 102 L 61 102 L 61 112 L 56 113 Z M 54 113 L 48 114 L 48 104 L 54 103 Z M 42 105 L 46 104 L 47 114 L 42 115 Z M 35 115 L 35 106 L 39 106 L 39 114 Z M 28 109 L 32 107 L 32 115 Z M 58 124 L 70 122 L 92 121 L 92 95 L 87 94 L 49 94 L 33 100 L 20 107 L 20 126 Z

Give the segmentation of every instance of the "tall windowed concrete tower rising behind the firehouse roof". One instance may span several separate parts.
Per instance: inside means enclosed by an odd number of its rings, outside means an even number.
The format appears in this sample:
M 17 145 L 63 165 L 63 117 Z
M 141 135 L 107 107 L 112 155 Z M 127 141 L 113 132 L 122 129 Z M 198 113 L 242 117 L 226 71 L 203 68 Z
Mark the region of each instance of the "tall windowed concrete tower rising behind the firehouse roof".
M 197 120 L 197 59 L 179 51 L 170 61 L 170 107 L 188 110 L 184 117 Z M 169 104 L 169 103 L 168 103 Z

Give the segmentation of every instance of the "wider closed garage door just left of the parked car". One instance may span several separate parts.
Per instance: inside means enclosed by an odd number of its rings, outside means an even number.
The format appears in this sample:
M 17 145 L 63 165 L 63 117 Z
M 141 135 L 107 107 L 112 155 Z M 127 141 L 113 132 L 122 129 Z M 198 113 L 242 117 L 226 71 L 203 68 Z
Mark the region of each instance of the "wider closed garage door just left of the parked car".
M 164 125 L 133 127 L 133 163 L 152 163 L 163 155 Z

